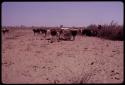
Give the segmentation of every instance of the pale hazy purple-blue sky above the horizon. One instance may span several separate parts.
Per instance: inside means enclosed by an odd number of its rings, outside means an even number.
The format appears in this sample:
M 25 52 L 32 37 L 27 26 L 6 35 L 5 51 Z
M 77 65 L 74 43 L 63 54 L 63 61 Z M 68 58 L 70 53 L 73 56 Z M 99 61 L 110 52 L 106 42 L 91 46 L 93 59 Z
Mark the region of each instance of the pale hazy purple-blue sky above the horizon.
M 111 2 L 3 2 L 2 26 L 87 26 L 123 24 L 123 3 Z

